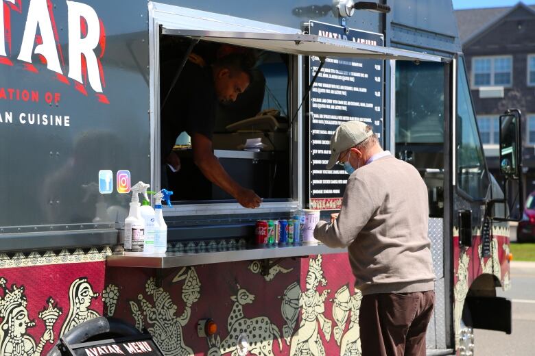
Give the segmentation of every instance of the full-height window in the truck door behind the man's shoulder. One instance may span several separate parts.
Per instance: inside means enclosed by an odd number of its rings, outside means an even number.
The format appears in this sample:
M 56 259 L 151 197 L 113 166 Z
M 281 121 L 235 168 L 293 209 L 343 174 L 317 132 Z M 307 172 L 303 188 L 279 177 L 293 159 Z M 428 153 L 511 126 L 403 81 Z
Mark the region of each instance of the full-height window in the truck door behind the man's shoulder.
M 444 64 L 396 62 L 396 157 L 414 165 L 429 216 L 444 213 Z

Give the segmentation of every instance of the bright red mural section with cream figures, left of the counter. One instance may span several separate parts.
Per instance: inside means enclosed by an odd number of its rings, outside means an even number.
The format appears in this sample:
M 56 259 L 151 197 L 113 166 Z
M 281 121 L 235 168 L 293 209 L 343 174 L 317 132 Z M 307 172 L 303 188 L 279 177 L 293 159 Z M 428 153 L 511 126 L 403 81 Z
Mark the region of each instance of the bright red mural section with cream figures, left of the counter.
M 61 335 L 102 315 L 108 249 L 0 255 L 0 355 L 46 355 Z

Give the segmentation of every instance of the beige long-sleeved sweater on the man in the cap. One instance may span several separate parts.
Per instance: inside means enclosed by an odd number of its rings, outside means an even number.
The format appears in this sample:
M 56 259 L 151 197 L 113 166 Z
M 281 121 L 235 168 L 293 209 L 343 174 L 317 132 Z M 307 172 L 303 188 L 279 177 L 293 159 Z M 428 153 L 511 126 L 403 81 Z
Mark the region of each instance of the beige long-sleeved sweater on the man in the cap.
M 362 294 L 433 290 L 427 203 L 418 170 L 381 157 L 350 175 L 340 215 L 332 224 L 320 221 L 314 237 L 330 247 L 348 246 Z

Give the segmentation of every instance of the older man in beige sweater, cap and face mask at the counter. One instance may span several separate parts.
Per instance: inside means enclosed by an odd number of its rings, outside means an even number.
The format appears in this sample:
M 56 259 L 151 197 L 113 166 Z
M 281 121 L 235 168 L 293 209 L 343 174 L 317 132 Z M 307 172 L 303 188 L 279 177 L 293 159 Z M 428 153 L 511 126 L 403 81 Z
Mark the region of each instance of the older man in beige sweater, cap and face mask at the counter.
M 372 127 L 347 122 L 331 138 L 327 168 L 350 175 L 339 216 L 320 221 L 314 237 L 348 247 L 362 294 L 362 354 L 425 355 L 435 301 L 427 188 L 418 170 L 383 151 Z

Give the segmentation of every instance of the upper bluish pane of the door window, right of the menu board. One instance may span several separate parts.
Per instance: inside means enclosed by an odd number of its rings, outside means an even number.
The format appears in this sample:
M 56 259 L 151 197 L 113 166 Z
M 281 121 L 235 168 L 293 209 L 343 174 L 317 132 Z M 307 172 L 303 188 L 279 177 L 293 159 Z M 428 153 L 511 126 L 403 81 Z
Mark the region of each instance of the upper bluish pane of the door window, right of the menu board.
M 444 65 L 396 62 L 396 144 L 444 142 Z

